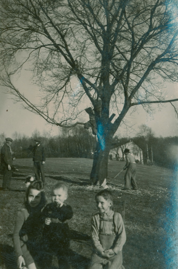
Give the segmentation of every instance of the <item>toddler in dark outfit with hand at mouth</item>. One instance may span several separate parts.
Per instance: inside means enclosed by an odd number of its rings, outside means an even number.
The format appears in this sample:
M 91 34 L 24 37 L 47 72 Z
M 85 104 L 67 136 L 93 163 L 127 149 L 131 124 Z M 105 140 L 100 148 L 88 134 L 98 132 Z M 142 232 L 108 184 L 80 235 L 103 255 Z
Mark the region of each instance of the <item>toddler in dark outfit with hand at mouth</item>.
M 71 206 L 65 204 L 68 188 L 65 183 L 57 183 L 51 191 L 52 203 L 48 204 L 42 214 L 45 221 L 43 247 L 45 258 L 43 268 L 50 268 L 56 255 L 60 269 L 68 269 L 70 230 L 67 220 L 73 216 Z

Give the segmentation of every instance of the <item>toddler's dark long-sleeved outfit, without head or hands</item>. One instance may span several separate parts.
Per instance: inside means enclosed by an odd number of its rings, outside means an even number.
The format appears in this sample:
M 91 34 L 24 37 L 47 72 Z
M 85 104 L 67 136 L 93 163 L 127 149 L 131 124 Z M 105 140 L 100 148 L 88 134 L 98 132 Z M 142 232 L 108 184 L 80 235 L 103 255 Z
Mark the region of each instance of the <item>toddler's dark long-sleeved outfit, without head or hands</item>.
M 53 256 L 56 255 L 60 269 L 68 269 L 70 252 L 70 229 L 67 220 L 73 216 L 71 206 L 63 204 L 57 207 L 55 203 L 48 204 L 42 212 L 43 220 L 51 219 L 49 225 L 45 224 L 43 231 L 43 268 L 50 268 Z

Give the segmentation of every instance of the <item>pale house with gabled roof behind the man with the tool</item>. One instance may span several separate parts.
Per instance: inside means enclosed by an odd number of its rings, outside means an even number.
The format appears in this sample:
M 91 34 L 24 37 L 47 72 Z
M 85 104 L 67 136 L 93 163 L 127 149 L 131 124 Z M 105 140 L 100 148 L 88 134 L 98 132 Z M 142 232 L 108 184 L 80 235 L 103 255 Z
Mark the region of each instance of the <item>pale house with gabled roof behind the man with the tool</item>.
M 116 160 L 116 161 L 122 161 L 125 160 L 124 156 L 124 150 L 128 148 L 130 150 L 130 154 L 133 155 L 135 160 L 139 162 L 140 164 L 143 164 L 143 152 L 142 149 L 135 144 L 133 141 L 129 141 L 127 143 L 121 144 L 121 143 L 115 143 L 112 145 L 109 159 L 110 160 Z

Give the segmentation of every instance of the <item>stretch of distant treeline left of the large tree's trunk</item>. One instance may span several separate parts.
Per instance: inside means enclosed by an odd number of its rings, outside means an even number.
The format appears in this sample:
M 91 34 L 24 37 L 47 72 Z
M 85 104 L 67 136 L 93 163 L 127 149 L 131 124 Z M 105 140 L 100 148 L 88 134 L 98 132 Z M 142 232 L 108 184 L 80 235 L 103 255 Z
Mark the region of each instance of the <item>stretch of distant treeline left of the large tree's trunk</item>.
M 5 137 L 5 134 L 1 134 L 1 147 L 5 143 Z M 43 132 L 41 135 L 38 130 L 31 137 L 14 132 L 11 145 L 14 157 L 32 158 L 35 138 L 41 139 L 47 158 L 92 158 L 96 147 L 96 137 L 80 125 L 72 129 L 62 128 L 61 134 L 57 136 L 51 136 L 50 132 Z

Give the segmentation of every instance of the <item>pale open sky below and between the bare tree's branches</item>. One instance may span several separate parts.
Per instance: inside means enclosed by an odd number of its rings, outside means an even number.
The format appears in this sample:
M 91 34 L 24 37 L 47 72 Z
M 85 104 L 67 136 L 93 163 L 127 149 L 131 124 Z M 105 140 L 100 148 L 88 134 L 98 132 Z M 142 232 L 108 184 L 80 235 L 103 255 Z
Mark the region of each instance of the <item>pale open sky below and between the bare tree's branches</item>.
M 32 86 L 32 83 L 27 80 L 27 77 L 22 74 L 18 79 L 17 86 L 21 88 L 21 91 L 35 101 L 37 95 L 37 89 Z M 177 98 L 178 84 L 166 84 L 167 97 Z M 5 89 L 0 89 L 0 126 L 1 133 L 4 132 L 6 137 L 12 137 L 14 132 L 31 136 L 32 132 L 36 129 L 41 133 L 43 131 L 49 131 L 51 136 L 60 134 L 60 128 L 57 126 L 51 126 L 38 115 L 23 109 L 21 102 L 14 103 L 13 95 L 6 94 Z M 174 103 L 178 107 L 178 102 Z M 85 107 L 89 105 L 84 104 Z M 146 124 L 151 127 L 156 137 L 162 136 L 178 136 L 178 119 L 174 108 L 170 103 L 164 104 L 158 108 L 157 104 L 153 104 L 155 109 L 154 113 L 147 114 L 140 106 L 137 112 L 133 112 L 131 115 L 125 117 L 128 126 L 132 128 L 125 129 L 125 126 L 119 127 L 117 134 L 121 137 L 129 136 L 134 137 L 138 132 L 138 127 L 141 124 Z M 115 119 L 115 118 L 114 118 Z M 83 118 L 84 122 L 88 121 L 88 114 L 86 118 Z

